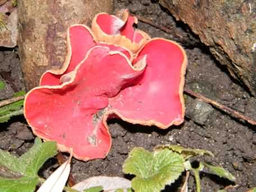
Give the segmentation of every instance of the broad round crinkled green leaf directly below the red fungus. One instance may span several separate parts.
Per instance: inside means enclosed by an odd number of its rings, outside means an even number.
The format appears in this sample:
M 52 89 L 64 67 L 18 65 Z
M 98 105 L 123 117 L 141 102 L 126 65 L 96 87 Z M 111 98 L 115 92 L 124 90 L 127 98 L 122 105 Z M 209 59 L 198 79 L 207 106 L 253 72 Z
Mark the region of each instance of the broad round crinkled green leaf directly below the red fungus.
M 123 172 L 135 175 L 132 189 L 140 192 L 160 191 L 184 171 L 184 158 L 169 149 L 149 152 L 134 148 L 126 159 Z

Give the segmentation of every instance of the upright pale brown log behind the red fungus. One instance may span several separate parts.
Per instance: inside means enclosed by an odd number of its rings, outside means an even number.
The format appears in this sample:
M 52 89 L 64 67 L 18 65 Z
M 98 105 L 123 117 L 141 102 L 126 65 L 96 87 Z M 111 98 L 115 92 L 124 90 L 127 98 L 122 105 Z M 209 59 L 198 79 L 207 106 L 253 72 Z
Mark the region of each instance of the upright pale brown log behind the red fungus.
M 97 13 L 112 12 L 113 0 L 20 0 L 18 7 L 19 56 L 29 90 L 44 71 L 62 67 L 68 26 L 90 26 Z

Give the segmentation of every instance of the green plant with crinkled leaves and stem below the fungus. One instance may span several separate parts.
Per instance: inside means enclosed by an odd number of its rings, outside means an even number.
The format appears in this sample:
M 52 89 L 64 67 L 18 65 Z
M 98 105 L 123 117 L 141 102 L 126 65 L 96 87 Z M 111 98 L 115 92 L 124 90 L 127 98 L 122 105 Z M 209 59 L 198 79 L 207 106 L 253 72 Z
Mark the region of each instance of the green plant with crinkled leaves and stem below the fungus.
M 199 167 L 193 168 L 189 158 L 195 156 L 212 156 L 207 150 L 184 148 L 178 145 L 164 145 L 149 152 L 143 148 L 134 148 L 126 159 L 123 171 L 135 175 L 131 181 L 135 191 L 161 191 L 181 175 L 183 171 L 193 171 L 196 190 L 200 192 L 199 172 L 205 171 L 234 181 L 235 177 L 222 167 L 199 162 Z

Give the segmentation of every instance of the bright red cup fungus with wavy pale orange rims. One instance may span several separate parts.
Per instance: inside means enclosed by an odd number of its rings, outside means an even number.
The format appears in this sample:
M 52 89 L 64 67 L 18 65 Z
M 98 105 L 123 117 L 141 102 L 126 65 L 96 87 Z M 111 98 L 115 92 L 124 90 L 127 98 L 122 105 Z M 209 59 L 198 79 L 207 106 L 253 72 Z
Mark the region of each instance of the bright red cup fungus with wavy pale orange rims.
M 171 40 L 149 39 L 133 29 L 135 21 L 125 10 L 122 20 L 95 16 L 94 33 L 84 25 L 68 29 L 63 68 L 45 72 L 25 98 L 35 135 L 87 161 L 111 148 L 108 118 L 161 129 L 183 122 L 185 51 Z

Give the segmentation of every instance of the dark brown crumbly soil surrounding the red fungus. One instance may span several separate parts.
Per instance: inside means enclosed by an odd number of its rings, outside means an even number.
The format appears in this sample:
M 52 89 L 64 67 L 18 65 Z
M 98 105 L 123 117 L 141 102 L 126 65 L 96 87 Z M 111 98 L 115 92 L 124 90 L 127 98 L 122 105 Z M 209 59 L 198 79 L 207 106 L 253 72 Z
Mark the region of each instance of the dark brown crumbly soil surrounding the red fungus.
M 176 22 L 158 3 L 149 0 L 119 0 L 116 9 L 129 8 L 131 13 L 152 19 L 156 24 L 173 29 L 166 34 L 148 24 L 139 23 L 138 28 L 147 31 L 152 37 L 176 40 L 188 54 L 189 65 L 186 73 L 186 88 L 217 100 L 228 107 L 256 119 L 256 99 L 251 97 L 243 86 L 232 79 L 225 67 L 221 66 L 207 47 L 191 33 L 188 26 Z M 14 92 L 24 90 L 19 58 L 14 50 L 0 50 L 0 80 L 6 81 L 6 88 L 0 90 L 0 99 L 12 97 Z M 237 188 L 228 191 L 246 191 L 256 186 L 256 132 L 250 126 L 226 113 L 205 104 L 198 99 L 185 96 L 186 120 L 181 126 L 167 130 L 156 127 L 131 125 L 120 120 L 109 122 L 113 138 L 111 152 L 106 159 L 89 162 L 72 160 L 72 175 L 77 181 L 92 176 L 124 176 L 122 164 L 134 147 L 152 150 L 159 144 L 180 144 L 184 147 L 211 150 L 215 158 L 204 158 L 206 162 L 220 164 L 235 177 Z M 0 148 L 20 155 L 31 147 L 34 136 L 24 118 L 12 118 L 1 124 Z M 56 161 L 49 161 L 42 170 L 47 177 Z M 234 183 L 203 173 L 202 191 L 217 191 Z M 168 188 L 167 191 L 178 191 Z M 189 177 L 189 191 L 195 191 L 194 177 Z

